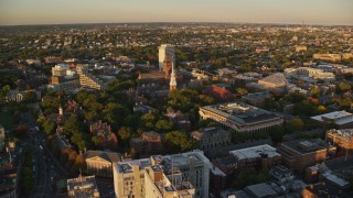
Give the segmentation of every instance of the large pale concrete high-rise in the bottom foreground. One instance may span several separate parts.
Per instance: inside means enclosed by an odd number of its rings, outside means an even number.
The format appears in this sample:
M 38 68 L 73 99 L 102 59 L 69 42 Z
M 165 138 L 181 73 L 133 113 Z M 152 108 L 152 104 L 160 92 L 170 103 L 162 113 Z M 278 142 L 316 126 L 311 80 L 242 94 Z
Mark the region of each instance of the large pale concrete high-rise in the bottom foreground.
M 119 198 L 207 198 L 210 161 L 202 151 L 118 162 L 113 166 Z

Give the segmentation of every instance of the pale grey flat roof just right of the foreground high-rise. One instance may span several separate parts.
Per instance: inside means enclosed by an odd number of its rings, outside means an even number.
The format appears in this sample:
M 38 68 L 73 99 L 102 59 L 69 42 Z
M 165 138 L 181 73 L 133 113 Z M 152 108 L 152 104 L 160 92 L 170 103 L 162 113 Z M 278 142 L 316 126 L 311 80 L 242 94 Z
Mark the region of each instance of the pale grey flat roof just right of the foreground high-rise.
M 276 148 L 268 144 L 231 151 L 229 153 L 238 160 L 280 156 L 280 154 L 276 152 Z

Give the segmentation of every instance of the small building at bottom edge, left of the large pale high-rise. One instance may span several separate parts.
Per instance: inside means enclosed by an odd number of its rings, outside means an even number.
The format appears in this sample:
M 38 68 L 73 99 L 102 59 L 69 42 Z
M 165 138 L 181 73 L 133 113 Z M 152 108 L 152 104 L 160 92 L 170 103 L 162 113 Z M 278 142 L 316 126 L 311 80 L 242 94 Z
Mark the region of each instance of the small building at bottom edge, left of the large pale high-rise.
M 95 176 L 79 176 L 77 178 L 67 179 L 67 194 L 69 198 L 100 197 Z

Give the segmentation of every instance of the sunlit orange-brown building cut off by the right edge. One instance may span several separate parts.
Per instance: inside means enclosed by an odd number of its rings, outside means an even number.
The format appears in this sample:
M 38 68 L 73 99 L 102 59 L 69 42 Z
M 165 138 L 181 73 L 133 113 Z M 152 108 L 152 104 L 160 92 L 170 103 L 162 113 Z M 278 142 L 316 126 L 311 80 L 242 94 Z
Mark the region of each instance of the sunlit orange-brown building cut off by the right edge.
M 339 147 L 353 150 L 353 129 L 328 130 L 327 140 Z

